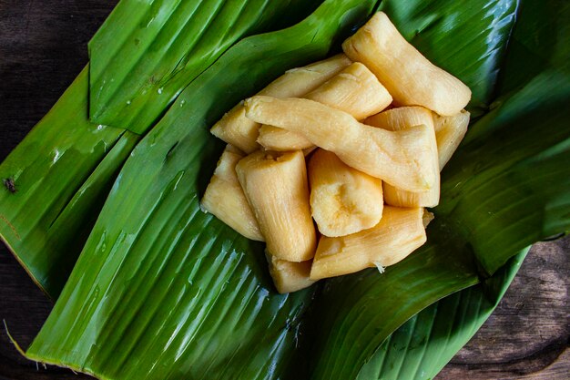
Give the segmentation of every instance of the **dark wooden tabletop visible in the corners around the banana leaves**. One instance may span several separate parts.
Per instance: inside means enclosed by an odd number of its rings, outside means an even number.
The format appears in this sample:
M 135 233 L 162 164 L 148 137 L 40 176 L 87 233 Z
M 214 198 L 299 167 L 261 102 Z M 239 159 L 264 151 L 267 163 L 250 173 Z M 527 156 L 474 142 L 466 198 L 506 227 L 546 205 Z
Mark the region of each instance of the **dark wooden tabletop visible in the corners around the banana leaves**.
M 0 0 L 0 160 L 87 63 L 116 0 Z M 570 378 L 570 238 L 536 244 L 496 312 L 438 380 Z M 0 319 L 26 347 L 52 304 L 0 247 Z M 0 328 L 0 380 L 78 380 L 25 360 Z M 131 380 L 131 379 L 125 379 Z

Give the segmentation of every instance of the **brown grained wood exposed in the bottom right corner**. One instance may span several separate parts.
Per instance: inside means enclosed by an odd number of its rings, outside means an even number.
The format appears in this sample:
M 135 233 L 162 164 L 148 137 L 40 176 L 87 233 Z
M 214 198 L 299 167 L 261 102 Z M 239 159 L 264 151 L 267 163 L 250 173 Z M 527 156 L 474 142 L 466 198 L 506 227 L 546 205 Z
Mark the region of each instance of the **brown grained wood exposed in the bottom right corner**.
M 570 236 L 534 244 L 495 312 L 437 380 L 567 380 Z

